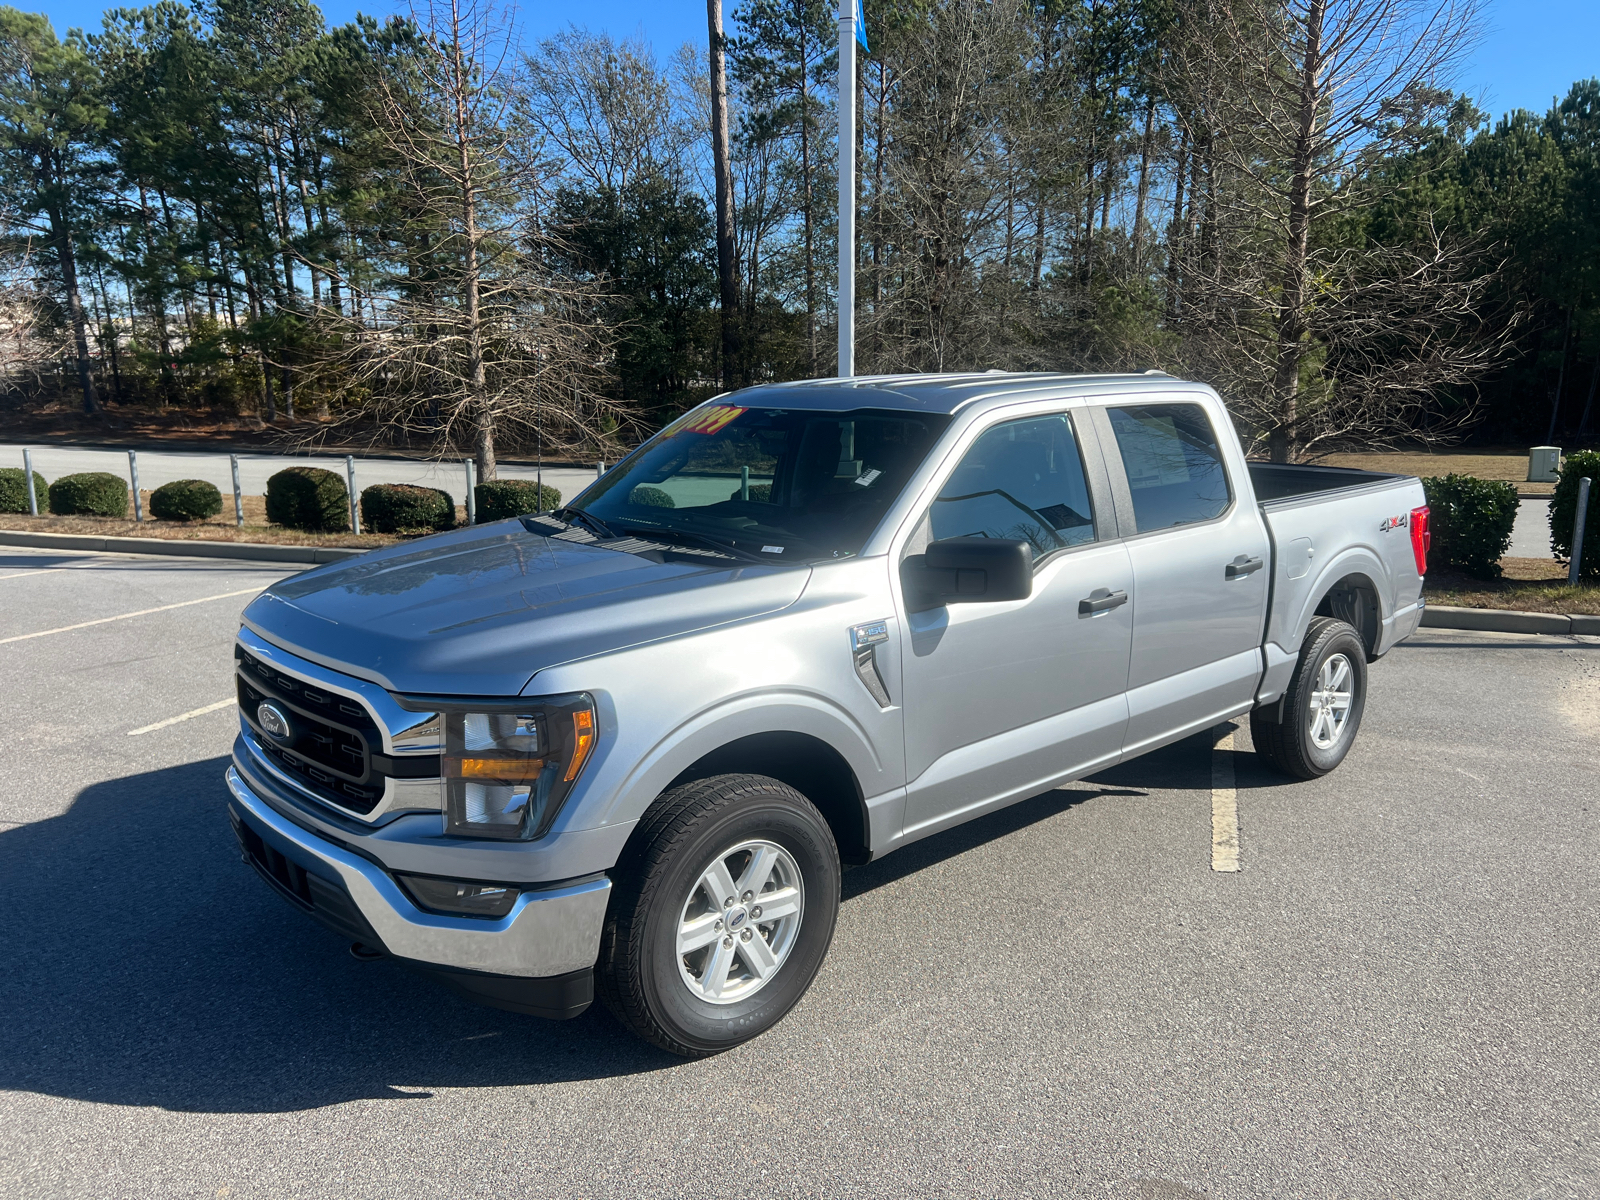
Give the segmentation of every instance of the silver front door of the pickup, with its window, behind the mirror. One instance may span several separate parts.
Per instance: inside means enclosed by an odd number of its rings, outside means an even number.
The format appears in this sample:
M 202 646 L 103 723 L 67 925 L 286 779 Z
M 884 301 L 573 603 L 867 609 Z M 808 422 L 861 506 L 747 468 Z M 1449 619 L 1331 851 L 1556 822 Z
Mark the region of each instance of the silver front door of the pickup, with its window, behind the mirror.
M 1080 424 L 1054 411 L 976 430 L 902 549 L 974 534 L 1034 547 L 1027 600 L 906 613 L 906 837 L 1120 754 L 1134 579 Z

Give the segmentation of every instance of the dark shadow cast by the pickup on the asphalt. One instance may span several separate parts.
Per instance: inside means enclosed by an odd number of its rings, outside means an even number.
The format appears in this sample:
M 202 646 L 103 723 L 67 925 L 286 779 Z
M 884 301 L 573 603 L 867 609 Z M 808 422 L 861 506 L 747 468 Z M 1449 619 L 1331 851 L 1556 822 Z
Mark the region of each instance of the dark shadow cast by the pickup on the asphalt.
M 1208 760 L 1190 739 L 1034 797 L 848 872 L 845 899 L 1099 795 L 1202 786 Z M 458 1000 L 395 963 L 355 962 L 240 862 L 226 766 L 94 784 L 64 814 L 0 832 L 0 1090 L 290 1112 L 682 1062 L 598 1005 L 538 1021 Z

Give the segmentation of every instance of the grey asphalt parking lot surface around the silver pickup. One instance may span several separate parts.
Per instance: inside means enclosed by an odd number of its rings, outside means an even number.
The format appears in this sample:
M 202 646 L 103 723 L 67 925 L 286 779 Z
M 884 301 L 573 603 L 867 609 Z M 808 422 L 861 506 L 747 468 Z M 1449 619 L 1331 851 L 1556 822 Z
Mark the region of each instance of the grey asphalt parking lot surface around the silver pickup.
M 282 574 L 0 554 L 3 1195 L 1600 1195 L 1600 638 L 1421 630 L 1318 782 L 1242 728 L 1238 874 L 1208 738 L 853 870 L 800 1008 L 680 1062 L 240 864 Z

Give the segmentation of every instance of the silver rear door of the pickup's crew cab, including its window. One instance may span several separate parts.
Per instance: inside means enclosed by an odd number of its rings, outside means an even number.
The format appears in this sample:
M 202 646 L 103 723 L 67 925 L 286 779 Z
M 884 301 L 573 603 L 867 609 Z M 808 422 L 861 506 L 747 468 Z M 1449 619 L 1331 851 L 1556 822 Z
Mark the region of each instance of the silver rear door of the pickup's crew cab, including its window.
M 1091 413 L 1138 592 L 1125 739 L 1134 755 L 1250 709 L 1270 546 L 1238 438 L 1206 405 Z

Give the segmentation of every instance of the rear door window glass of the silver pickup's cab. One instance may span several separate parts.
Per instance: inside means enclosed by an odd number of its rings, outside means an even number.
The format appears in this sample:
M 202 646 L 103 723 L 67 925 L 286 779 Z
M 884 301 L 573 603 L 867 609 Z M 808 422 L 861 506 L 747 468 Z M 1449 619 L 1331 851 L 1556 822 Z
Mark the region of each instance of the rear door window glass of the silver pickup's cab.
M 1110 408 L 1107 416 L 1139 533 L 1206 522 L 1227 510 L 1222 450 L 1200 405 Z

